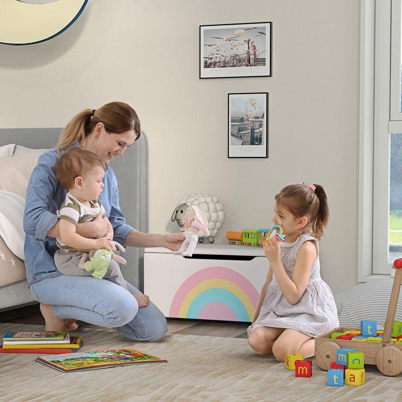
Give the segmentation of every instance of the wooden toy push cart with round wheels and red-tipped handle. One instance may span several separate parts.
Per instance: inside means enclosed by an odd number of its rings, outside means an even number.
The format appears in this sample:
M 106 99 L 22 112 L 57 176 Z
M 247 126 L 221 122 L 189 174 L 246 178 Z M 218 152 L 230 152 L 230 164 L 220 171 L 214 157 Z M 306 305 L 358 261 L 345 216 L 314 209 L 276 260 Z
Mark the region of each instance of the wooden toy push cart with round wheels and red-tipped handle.
M 391 330 L 395 318 L 400 285 L 402 283 L 402 258 L 395 260 L 393 266 L 396 268 L 396 272 L 393 279 L 382 342 L 331 339 L 331 334 L 334 332 L 356 331 L 355 328 L 338 328 L 319 336 L 315 340 L 315 359 L 316 363 L 322 369 L 328 370 L 331 363 L 337 360 L 338 349 L 356 348 L 364 353 L 364 364 L 375 364 L 381 373 L 389 376 L 402 373 L 402 344 L 390 343 Z

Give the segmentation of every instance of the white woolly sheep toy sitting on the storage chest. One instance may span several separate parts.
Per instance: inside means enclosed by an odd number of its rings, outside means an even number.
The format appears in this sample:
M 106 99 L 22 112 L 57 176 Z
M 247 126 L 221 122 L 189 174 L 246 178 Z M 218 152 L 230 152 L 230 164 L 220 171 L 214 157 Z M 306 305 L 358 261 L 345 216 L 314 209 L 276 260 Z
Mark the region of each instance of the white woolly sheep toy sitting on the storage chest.
M 205 215 L 208 221 L 208 230 L 210 232 L 208 241 L 214 243 L 215 236 L 225 220 L 224 206 L 219 202 L 215 195 L 210 194 L 189 194 L 180 199 L 178 206 L 172 214 L 172 222 L 176 222 L 181 230 L 184 230 L 183 217 L 189 206 L 196 206 Z M 204 242 L 204 237 L 198 238 L 199 243 Z

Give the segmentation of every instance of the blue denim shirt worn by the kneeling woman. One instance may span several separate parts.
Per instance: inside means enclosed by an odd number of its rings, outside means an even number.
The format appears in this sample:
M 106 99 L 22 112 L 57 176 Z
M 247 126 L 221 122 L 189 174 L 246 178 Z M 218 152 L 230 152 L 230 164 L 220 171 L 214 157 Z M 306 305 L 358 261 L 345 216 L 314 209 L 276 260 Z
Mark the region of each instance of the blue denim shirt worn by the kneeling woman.
M 71 146 L 80 146 L 79 142 Z M 65 148 L 67 149 L 67 148 Z M 61 154 L 64 153 L 61 150 Z M 28 183 L 24 211 L 25 264 L 28 284 L 39 280 L 59 276 L 61 273 L 54 264 L 54 253 L 58 249 L 56 239 L 46 237 L 49 230 L 57 223 L 56 211 L 64 201 L 67 190 L 60 187 L 52 170 L 59 155 L 56 148 L 43 153 L 32 172 Z M 105 187 L 99 198 L 113 230 L 114 239 L 124 245 L 128 234 L 133 230 L 126 224 L 119 206 L 119 190 L 112 168 L 108 166 L 104 178 Z

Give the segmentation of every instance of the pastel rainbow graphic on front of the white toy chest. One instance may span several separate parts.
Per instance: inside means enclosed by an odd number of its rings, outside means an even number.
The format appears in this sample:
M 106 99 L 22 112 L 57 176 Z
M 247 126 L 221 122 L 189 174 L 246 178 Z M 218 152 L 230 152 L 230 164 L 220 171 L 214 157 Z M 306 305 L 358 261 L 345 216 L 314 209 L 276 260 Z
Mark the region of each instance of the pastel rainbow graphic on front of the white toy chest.
M 240 273 L 208 267 L 189 276 L 178 288 L 169 317 L 249 322 L 259 293 Z

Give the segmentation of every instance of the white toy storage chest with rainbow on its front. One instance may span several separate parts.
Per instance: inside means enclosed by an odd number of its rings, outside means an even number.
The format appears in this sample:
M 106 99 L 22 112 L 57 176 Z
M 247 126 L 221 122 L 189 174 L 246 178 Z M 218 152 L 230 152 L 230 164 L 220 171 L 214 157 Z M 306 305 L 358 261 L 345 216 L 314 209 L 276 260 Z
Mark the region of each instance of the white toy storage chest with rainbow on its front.
M 165 317 L 251 322 L 268 268 L 259 247 L 198 244 L 191 258 L 146 248 L 144 293 Z

